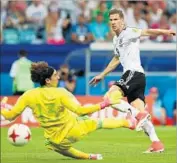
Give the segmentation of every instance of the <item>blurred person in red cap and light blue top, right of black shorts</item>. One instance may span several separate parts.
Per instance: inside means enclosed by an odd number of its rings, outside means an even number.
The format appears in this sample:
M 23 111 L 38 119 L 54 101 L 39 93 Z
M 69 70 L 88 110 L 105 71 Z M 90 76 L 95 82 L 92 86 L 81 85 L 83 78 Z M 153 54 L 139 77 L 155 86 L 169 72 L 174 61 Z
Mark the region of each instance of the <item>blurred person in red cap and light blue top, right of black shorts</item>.
M 166 124 L 166 110 L 162 106 L 162 101 L 159 99 L 159 91 L 156 87 L 149 90 L 149 96 L 153 100 L 152 105 L 152 121 L 154 124 Z

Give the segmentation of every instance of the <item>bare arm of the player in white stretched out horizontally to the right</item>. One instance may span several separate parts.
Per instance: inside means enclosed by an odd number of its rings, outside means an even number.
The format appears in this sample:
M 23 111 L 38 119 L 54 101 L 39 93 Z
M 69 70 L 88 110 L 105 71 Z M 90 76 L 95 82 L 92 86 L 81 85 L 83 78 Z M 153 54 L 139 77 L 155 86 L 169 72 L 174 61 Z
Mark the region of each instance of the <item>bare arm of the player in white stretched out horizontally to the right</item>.
M 158 35 L 175 36 L 176 32 L 174 30 L 168 29 L 144 29 L 141 32 L 141 36 L 158 36 Z

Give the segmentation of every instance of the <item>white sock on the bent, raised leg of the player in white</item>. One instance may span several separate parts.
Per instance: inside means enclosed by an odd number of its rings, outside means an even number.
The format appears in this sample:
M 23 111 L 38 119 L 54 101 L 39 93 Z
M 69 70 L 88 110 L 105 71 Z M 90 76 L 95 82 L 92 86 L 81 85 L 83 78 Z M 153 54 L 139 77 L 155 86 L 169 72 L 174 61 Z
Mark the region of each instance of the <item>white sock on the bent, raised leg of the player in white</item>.
M 136 117 L 137 114 L 140 112 L 138 109 L 134 108 L 124 100 L 120 100 L 119 104 L 112 105 L 112 108 L 125 113 L 131 112 L 133 117 Z

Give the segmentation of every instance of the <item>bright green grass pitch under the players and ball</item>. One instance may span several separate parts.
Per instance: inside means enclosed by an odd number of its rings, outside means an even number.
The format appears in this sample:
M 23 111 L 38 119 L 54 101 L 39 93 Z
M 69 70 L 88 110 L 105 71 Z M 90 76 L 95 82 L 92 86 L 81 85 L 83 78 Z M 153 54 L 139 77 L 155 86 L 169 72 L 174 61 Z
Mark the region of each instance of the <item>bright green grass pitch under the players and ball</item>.
M 1 163 L 86 163 L 64 157 L 44 146 L 43 130 L 32 128 L 32 140 L 24 147 L 14 147 L 7 140 L 7 128 L 1 128 Z M 150 141 L 143 133 L 120 128 L 98 130 L 74 144 L 84 152 L 101 153 L 100 163 L 176 163 L 176 128 L 156 127 L 166 150 L 161 154 L 143 154 Z

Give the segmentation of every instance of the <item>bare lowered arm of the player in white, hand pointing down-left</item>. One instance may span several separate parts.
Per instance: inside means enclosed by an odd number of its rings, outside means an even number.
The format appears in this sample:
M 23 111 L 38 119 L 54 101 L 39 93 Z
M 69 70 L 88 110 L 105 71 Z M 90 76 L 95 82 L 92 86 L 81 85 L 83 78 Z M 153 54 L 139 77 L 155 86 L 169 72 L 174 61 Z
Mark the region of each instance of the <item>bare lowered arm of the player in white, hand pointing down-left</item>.
M 108 66 L 104 69 L 104 71 L 95 76 L 94 78 L 92 78 L 89 81 L 90 85 L 96 85 L 98 82 L 100 82 L 108 73 L 110 73 L 111 71 L 113 71 L 118 65 L 119 65 L 120 61 L 119 58 L 117 56 L 114 56 L 112 58 L 112 60 L 110 61 L 110 63 L 108 64 Z

